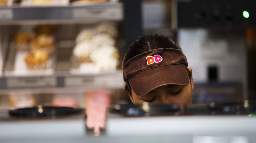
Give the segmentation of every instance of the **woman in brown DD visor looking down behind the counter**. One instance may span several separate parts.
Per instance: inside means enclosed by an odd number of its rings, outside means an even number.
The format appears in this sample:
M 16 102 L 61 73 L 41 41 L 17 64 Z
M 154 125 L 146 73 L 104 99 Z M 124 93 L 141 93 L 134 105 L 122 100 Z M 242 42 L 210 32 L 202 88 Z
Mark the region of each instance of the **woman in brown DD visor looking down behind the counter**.
M 134 104 L 192 104 L 192 69 L 177 43 L 167 36 L 135 40 L 122 63 L 124 90 Z

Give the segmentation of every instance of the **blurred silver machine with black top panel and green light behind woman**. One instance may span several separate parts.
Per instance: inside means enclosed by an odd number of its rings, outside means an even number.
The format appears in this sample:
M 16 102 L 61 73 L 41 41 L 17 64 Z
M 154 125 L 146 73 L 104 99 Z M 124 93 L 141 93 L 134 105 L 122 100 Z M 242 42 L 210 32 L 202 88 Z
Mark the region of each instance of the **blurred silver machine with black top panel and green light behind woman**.
M 178 0 L 177 4 L 177 39 L 195 81 L 199 88 L 216 87 L 197 92 L 200 102 L 255 99 L 251 42 L 255 2 Z

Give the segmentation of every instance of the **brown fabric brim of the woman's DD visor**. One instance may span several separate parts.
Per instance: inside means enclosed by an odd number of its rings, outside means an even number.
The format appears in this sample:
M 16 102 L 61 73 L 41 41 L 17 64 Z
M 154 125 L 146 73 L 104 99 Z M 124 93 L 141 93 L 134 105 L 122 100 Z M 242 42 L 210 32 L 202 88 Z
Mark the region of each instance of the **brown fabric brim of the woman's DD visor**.
M 151 90 L 164 85 L 187 86 L 190 79 L 185 65 L 165 65 L 141 71 L 128 78 L 134 93 L 142 97 Z

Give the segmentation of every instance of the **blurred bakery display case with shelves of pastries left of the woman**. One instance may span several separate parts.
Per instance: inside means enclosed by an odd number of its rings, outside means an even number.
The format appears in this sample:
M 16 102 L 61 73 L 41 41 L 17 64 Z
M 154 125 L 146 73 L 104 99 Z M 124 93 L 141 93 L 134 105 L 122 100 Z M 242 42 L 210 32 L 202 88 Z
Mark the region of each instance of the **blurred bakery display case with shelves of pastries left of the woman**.
M 0 108 L 19 107 L 16 100 L 31 101 L 25 106 L 53 105 L 60 97 L 83 107 L 87 91 L 102 88 L 111 91 L 113 103 L 126 102 L 121 62 L 141 26 L 140 17 L 125 11 L 139 5 L 125 0 L 2 4 Z

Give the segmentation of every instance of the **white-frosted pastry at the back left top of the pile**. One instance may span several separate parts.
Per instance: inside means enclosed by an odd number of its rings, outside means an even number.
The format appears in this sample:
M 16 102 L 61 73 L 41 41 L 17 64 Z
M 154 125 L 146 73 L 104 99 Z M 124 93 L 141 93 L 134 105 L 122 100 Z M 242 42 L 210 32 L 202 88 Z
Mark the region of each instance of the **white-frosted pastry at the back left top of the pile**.
M 82 29 L 76 36 L 75 43 L 79 43 L 84 40 L 92 40 L 93 36 L 96 35 L 96 30 L 93 28 Z

